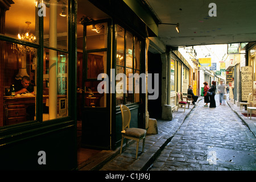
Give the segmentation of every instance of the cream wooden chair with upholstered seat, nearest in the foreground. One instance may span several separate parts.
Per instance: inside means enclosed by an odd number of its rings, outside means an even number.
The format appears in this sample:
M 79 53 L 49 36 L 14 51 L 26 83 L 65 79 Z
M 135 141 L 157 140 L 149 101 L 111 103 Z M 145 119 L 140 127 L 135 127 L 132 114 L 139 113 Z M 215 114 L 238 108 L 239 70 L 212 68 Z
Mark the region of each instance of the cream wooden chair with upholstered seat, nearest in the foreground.
M 120 109 L 122 113 L 122 131 L 121 131 L 122 140 L 121 140 L 120 154 L 122 154 L 123 138 L 126 138 L 125 148 L 127 147 L 127 139 L 136 140 L 137 141 L 136 159 L 137 159 L 138 150 L 139 150 L 139 140 L 143 139 L 143 146 L 142 146 L 142 152 L 143 152 L 147 131 L 144 129 L 130 128 L 130 121 L 131 121 L 130 109 L 125 105 L 120 105 Z

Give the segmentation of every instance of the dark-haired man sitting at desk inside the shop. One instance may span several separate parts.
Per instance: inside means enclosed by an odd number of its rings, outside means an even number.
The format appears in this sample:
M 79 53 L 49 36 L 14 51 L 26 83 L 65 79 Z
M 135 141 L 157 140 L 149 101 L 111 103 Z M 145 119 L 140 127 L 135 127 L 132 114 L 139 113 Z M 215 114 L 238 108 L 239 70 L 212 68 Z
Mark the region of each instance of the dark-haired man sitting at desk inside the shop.
M 30 84 L 30 77 L 23 76 L 22 80 L 17 81 L 14 85 L 15 96 L 16 94 L 23 93 L 33 93 L 34 94 L 34 86 Z

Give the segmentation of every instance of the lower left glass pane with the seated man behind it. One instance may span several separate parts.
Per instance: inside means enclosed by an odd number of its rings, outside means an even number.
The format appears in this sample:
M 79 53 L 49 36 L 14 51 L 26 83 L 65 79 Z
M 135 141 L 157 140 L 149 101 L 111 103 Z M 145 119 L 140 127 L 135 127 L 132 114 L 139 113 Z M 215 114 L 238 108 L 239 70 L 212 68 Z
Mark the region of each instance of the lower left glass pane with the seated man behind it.
M 36 53 L 32 47 L 0 41 L 3 53 L 3 118 L 0 126 L 36 119 Z M 11 91 L 14 88 L 14 94 Z

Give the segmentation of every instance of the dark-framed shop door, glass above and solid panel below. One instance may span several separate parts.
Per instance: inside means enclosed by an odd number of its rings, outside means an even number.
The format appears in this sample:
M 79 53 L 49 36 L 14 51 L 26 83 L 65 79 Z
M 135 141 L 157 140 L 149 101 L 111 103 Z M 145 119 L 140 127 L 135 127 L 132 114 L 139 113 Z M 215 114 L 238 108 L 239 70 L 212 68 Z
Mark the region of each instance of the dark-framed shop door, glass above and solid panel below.
M 111 26 L 110 19 L 84 23 L 84 46 L 82 63 L 82 147 L 110 149 L 111 100 L 110 90 L 100 86 L 109 77 L 111 68 Z M 102 80 L 98 80 L 98 76 Z M 106 82 L 109 84 L 109 82 Z M 110 86 L 108 86 L 110 89 Z

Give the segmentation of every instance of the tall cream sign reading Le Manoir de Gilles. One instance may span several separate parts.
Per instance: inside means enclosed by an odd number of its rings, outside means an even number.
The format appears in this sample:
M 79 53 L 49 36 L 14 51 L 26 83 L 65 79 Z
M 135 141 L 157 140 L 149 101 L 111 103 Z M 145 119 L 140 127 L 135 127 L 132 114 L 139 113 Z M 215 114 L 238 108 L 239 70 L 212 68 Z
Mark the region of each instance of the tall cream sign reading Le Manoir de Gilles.
M 251 66 L 241 68 L 242 101 L 247 101 L 249 93 L 253 93 L 253 69 Z

